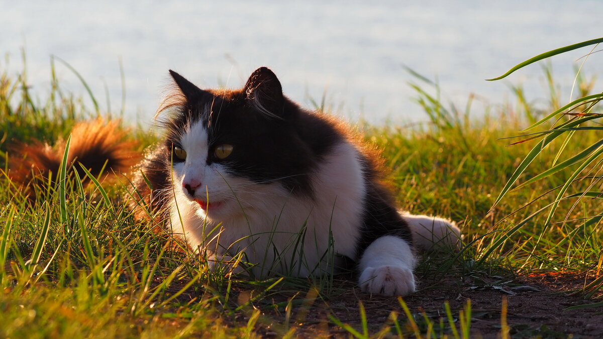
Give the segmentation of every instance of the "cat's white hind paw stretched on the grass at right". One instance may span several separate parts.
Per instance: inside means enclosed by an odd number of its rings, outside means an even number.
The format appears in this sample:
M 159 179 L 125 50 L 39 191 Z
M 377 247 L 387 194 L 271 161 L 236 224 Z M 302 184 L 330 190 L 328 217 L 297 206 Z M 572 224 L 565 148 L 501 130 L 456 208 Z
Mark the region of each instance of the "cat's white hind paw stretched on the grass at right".
M 420 250 L 460 249 L 461 230 L 454 221 L 428 215 L 400 212 L 412 231 L 412 240 Z

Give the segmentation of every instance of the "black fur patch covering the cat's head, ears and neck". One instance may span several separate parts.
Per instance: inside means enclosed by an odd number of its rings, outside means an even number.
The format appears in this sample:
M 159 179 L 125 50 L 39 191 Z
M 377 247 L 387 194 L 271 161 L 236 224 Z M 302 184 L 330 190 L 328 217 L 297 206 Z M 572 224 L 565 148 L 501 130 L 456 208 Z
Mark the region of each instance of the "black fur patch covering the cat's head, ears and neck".
M 312 197 L 312 172 L 343 137 L 318 113 L 306 112 L 283 97 L 270 70 L 254 72 L 242 90 L 195 91 L 185 78 L 175 72 L 172 76 L 187 94 L 186 101 L 162 122 L 166 149 L 180 147 L 184 126 L 202 121 L 209 133 L 208 163 L 222 163 L 232 176 L 256 183 L 278 181 L 293 194 Z M 258 105 L 274 116 L 259 111 Z M 221 144 L 233 145 L 232 154 L 223 160 L 213 156 Z M 168 159 L 179 161 L 172 154 Z

